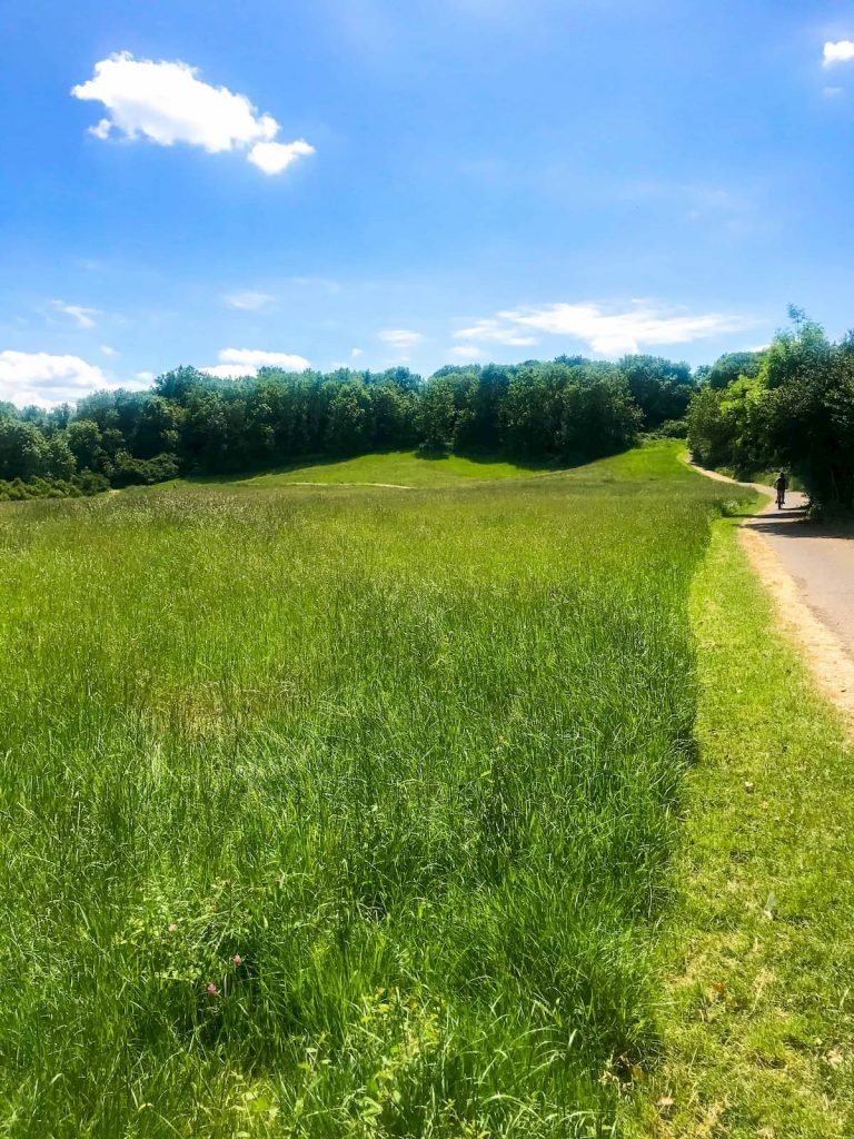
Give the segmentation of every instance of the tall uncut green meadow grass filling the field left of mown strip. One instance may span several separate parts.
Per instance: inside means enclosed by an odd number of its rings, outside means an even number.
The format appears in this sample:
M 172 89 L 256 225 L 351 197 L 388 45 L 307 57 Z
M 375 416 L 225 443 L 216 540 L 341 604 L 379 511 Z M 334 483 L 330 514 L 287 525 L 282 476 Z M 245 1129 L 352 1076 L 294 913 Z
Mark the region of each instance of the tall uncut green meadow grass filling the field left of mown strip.
M 613 1133 L 721 493 L 630 467 L 0 508 L 0 1134 Z

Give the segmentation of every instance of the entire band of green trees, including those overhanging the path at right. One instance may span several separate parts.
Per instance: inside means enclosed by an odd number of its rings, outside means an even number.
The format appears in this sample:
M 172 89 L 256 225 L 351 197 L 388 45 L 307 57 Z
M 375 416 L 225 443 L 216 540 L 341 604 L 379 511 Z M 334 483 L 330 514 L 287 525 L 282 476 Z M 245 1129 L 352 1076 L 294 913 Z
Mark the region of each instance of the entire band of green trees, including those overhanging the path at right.
M 642 433 L 685 435 L 708 467 L 753 477 L 783 466 L 820 507 L 854 509 L 854 334 L 839 343 L 798 309 L 757 352 L 711 367 L 650 355 L 323 374 L 195 368 L 146 392 L 97 392 L 75 408 L 0 403 L 0 501 L 92 494 L 309 459 L 419 448 L 572 464 Z

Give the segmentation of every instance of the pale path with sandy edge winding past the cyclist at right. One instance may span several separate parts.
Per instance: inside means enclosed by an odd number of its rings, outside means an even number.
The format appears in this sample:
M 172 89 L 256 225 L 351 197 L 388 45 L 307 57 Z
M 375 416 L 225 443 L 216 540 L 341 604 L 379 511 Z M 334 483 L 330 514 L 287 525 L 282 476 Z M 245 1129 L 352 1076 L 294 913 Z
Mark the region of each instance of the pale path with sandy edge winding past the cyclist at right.
M 803 646 L 819 685 L 854 731 L 854 531 L 807 522 L 803 494 L 790 491 L 778 510 L 769 486 L 741 485 L 769 495 L 767 506 L 742 523 L 742 544 L 783 626 Z

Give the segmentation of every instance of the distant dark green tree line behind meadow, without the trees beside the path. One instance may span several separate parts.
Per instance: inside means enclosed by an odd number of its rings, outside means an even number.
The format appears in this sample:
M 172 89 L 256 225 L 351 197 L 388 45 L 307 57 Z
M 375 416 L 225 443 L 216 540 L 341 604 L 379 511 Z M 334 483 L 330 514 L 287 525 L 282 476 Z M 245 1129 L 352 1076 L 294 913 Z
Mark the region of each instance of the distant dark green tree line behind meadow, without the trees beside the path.
M 594 459 L 681 420 L 692 391 L 687 364 L 654 357 L 447 367 L 426 380 L 407 368 L 263 368 L 228 380 L 182 367 L 146 392 L 97 392 L 75 408 L 0 404 L 0 497 L 87 494 L 416 446 Z

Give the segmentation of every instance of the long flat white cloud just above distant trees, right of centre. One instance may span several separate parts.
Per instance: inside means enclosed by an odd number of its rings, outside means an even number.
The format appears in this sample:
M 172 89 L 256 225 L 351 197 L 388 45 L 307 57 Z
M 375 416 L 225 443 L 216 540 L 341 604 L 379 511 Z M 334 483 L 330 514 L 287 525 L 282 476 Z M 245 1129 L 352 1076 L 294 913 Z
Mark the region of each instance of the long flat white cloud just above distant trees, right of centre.
M 598 304 L 550 304 L 500 312 L 498 320 L 503 328 L 534 329 L 549 336 L 584 341 L 594 352 L 607 357 L 639 352 L 648 345 L 690 344 L 753 326 L 745 317 L 720 312 L 692 314 L 659 309 L 648 301 L 610 313 Z

